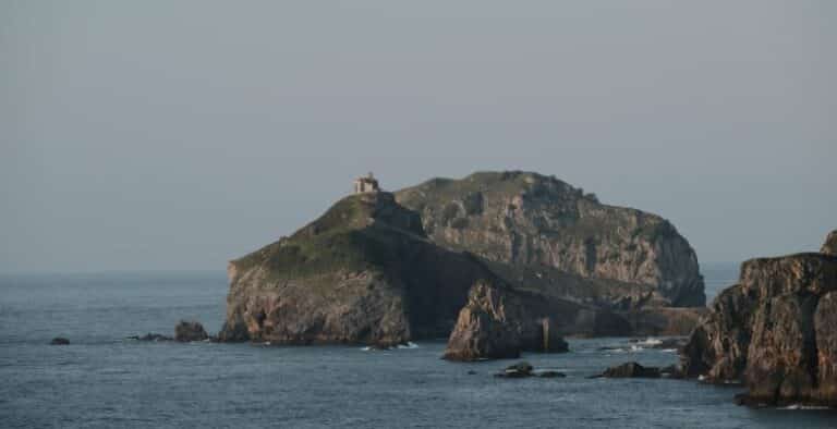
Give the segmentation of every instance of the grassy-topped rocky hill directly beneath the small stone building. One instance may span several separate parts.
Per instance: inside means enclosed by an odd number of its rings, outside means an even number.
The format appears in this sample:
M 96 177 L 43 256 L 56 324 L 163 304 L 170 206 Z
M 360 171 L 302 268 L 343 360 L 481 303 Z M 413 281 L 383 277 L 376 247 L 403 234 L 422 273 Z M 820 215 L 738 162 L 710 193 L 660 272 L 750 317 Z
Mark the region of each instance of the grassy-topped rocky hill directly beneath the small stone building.
M 446 336 L 480 279 L 477 258 L 427 240 L 392 194 L 352 195 L 230 262 L 221 341 L 391 346 Z

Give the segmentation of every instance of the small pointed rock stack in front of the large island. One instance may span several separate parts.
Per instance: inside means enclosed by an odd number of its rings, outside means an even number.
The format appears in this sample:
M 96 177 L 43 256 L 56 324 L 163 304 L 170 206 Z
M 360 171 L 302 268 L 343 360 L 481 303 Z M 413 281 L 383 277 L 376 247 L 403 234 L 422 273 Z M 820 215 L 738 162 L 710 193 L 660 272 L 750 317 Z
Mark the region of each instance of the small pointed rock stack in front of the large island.
M 536 297 L 485 281 L 471 289 L 444 358 L 515 358 L 523 351 L 567 352 L 567 342 L 548 312 L 531 305 Z

